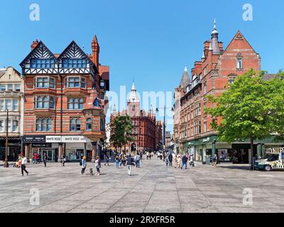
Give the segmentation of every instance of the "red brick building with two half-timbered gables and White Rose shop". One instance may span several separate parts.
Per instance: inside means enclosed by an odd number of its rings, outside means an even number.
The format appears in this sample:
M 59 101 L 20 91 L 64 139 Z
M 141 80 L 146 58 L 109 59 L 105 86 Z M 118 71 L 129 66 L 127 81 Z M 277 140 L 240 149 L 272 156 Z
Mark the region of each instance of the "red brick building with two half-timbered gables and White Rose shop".
M 21 62 L 24 80 L 23 144 L 26 155 L 47 153 L 48 160 L 88 160 L 100 155 L 105 134 L 105 92 L 109 67 L 99 64 L 99 43 L 92 55 L 72 41 L 53 54 L 35 40 Z

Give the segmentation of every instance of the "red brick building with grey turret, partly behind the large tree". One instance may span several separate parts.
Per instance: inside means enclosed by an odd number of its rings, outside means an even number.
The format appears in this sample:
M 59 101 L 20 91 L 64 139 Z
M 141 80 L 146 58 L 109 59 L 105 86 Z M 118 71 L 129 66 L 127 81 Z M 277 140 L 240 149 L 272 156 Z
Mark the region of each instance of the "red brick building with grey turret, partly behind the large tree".
M 195 159 L 205 161 L 206 155 L 217 153 L 224 161 L 232 160 L 235 153 L 244 154 L 249 160 L 249 146 L 239 143 L 223 143 L 217 140 L 217 132 L 211 128 L 212 118 L 204 113 L 210 107 L 206 96 L 218 96 L 228 89 L 228 84 L 250 69 L 261 70 L 261 57 L 251 47 L 241 31 L 238 31 L 231 43 L 224 49 L 219 42 L 219 33 L 214 24 L 211 40 L 204 42 L 202 60 L 195 62 L 191 78 L 183 74 L 179 93 L 180 113 L 175 118 L 175 138 L 178 141 L 180 153 L 195 154 Z M 178 96 L 175 94 L 175 96 Z M 176 120 L 176 119 L 175 119 Z M 220 120 L 220 119 L 219 119 Z M 241 157 L 243 159 L 243 157 Z

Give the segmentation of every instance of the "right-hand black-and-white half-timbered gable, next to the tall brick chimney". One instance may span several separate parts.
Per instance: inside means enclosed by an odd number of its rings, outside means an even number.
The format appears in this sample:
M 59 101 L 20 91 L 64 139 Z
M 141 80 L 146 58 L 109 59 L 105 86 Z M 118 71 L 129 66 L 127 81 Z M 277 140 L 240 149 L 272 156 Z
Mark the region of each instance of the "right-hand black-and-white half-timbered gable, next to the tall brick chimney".
M 95 78 L 96 68 L 84 51 L 72 41 L 58 57 L 60 74 L 92 74 Z

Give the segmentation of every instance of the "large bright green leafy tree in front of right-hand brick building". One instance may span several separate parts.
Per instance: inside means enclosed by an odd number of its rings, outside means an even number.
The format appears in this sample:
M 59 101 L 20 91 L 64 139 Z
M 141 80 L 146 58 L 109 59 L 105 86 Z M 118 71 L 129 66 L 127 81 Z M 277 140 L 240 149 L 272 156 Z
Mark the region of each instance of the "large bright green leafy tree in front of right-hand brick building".
M 250 70 L 239 76 L 220 96 L 208 96 L 212 108 L 205 109 L 212 116 L 212 128 L 218 131 L 219 140 L 232 143 L 250 138 L 251 157 L 254 140 L 283 132 L 284 128 L 282 76 L 264 80 L 263 74 Z

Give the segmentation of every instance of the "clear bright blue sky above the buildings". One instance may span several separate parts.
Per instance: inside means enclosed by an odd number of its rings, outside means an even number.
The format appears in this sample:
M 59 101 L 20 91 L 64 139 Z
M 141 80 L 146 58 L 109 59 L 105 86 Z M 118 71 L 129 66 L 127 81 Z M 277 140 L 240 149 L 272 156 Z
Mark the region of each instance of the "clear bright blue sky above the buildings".
M 253 21 L 243 19 L 248 3 Z M 40 6 L 40 21 L 30 20 L 31 4 Z M 0 67 L 20 70 L 36 38 L 55 53 L 71 40 L 90 53 L 97 34 L 111 91 L 128 91 L 135 79 L 138 92 L 173 92 L 185 65 L 201 59 L 216 18 L 224 47 L 241 30 L 261 54 L 262 69 L 275 73 L 284 67 L 283 7 L 283 0 L 1 0 Z

